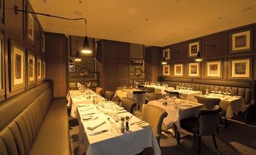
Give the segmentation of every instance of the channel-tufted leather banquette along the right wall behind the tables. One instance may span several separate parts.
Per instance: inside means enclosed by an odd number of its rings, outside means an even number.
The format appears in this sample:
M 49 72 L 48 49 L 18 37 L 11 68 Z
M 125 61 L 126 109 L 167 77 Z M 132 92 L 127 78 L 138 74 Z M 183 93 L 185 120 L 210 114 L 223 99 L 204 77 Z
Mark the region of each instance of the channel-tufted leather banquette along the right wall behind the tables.
M 230 90 L 232 96 L 242 96 L 245 101 L 245 122 L 255 119 L 255 81 L 221 81 L 206 79 L 185 79 L 159 77 L 160 82 L 176 88 L 179 84 L 193 84 L 193 90 L 199 90 L 205 94 L 205 90 L 211 87 L 219 91 Z

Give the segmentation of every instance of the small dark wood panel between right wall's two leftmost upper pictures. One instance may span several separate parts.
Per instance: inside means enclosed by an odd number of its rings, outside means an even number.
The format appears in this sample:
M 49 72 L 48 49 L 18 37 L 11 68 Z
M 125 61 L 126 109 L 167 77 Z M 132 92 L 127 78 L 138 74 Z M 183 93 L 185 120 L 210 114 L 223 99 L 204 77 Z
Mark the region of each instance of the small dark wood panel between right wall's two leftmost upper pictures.
M 171 56 L 174 61 L 187 59 L 187 43 L 181 42 L 172 45 Z

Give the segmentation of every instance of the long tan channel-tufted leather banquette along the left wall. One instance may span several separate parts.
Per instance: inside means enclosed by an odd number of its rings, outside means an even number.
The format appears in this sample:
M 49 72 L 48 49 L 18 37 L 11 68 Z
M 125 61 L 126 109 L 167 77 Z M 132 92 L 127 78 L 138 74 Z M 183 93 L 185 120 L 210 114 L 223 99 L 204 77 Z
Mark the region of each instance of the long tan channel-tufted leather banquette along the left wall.
M 66 99 L 46 81 L 0 102 L 0 154 L 71 154 Z

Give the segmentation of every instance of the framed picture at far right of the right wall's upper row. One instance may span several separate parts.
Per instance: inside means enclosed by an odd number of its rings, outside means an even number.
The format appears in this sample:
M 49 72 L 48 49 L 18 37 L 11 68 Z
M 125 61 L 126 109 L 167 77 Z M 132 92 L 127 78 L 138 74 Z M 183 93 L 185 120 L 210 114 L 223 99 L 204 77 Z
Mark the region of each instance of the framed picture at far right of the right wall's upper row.
M 229 36 L 230 53 L 239 53 L 253 51 L 252 29 L 246 29 L 240 32 L 232 32 Z

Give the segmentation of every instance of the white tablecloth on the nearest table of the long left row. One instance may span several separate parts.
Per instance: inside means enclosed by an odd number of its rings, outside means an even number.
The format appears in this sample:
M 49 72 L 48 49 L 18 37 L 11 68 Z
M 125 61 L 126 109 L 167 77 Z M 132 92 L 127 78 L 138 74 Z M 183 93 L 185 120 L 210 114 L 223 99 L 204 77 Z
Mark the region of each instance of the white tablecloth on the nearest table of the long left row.
M 110 103 L 109 103 L 110 104 Z M 92 108 L 90 108 L 90 106 Z M 138 125 L 130 126 L 129 132 L 121 133 L 112 131 L 110 128 L 110 121 L 115 122 L 109 115 L 103 114 L 96 108 L 96 105 L 89 107 L 79 107 L 79 141 L 85 144 L 87 155 L 130 155 L 140 153 L 145 147 L 153 147 L 154 154 L 161 154 L 159 144 L 156 141 L 153 130 L 150 126 L 140 127 Z M 106 107 L 117 106 L 109 105 Z M 85 110 L 88 109 L 88 110 Z M 84 111 L 82 111 L 84 110 Z M 107 111 L 107 110 L 106 110 Z M 96 120 L 82 120 L 82 117 L 88 116 L 86 114 L 95 113 L 93 117 L 98 117 Z M 131 114 L 126 112 L 119 114 L 121 116 L 129 116 Z M 109 121 L 110 120 L 110 121 Z M 87 129 L 88 126 L 103 123 L 93 131 Z M 129 123 L 140 121 L 137 117 L 131 117 Z M 116 123 L 119 126 L 119 123 Z M 109 129 L 108 132 L 101 133 L 100 135 L 90 135 L 94 132 L 99 132 L 104 129 Z

